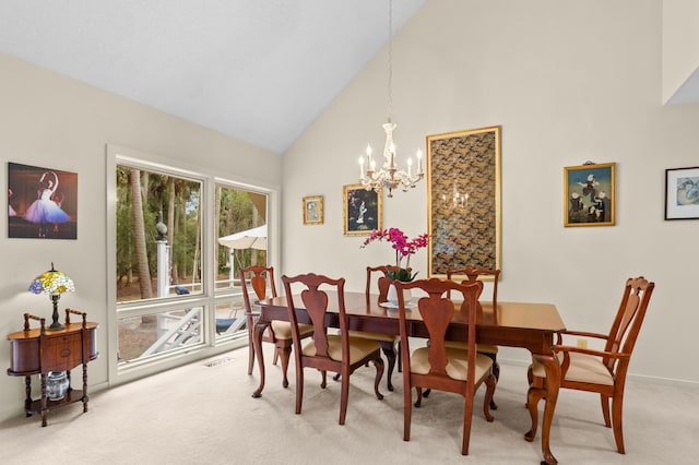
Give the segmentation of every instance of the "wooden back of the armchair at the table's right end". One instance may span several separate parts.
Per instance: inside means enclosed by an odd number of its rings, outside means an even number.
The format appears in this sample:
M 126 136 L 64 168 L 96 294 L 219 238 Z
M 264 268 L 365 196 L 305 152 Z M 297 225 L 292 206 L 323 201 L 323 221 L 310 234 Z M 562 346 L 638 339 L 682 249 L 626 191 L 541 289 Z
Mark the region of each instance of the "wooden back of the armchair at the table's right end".
M 643 276 L 626 281 L 621 303 L 614 323 L 612 323 L 609 337 L 604 348 L 605 351 L 628 354 L 628 357 L 631 357 L 654 287 L 655 283 L 649 283 Z M 618 358 L 606 357 L 604 358 L 604 365 L 609 371 L 614 371 L 616 360 Z M 625 360 L 624 365 L 628 366 L 628 359 Z

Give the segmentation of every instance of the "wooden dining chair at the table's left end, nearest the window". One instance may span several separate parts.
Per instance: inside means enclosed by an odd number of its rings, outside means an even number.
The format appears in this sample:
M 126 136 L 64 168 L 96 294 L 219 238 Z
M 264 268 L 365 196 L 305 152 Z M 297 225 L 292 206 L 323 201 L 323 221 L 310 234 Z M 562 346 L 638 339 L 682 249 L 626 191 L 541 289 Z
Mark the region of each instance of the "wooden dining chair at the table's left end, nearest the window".
M 276 297 L 276 286 L 274 285 L 274 269 L 272 266 L 248 266 L 239 270 L 240 287 L 242 290 L 242 300 L 245 302 L 245 314 L 248 326 L 248 374 L 252 374 L 252 366 L 254 365 L 254 346 L 252 342 L 252 329 L 259 312 L 252 310 L 252 303 L 250 302 L 250 296 L 248 295 L 248 278 L 250 286 L 254 290 L 254 295 L 258 300 L 262 300 L 268 297 L 268 283 L 271 295 L 269 297 Z M 313 329 L 310 325 L 301 325 L 300 333 L 303 337 L 307 337 L 312 333 Z M 287 321 L 272 321 L 270 326 L 262 336 L 262 342 L 274 344 L 274 358 L 272 365 L 276 365 L 276 361 L 282 359 L 282 386 L 288 386 L 288 378 L 286 372 L 288 370 L 288 360 L 292 354 L 292 325 Z

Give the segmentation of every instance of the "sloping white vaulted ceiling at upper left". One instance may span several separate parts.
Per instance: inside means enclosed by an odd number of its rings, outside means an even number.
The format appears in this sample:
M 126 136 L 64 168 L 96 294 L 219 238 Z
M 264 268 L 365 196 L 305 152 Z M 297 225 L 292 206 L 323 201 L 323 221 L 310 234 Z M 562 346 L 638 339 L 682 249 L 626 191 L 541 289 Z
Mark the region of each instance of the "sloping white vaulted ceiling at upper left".
M 275 153 L 388 38 L 388 0 L 0 1 L 1 52 Z

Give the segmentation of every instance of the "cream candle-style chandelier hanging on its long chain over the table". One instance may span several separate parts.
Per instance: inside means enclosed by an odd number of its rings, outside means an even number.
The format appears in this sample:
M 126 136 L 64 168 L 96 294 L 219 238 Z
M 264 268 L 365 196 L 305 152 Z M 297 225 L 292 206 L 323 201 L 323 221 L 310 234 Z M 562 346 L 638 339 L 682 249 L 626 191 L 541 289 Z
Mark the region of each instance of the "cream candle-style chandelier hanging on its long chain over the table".
M 413 160 L 407 158 L 407 171 L 399 170 L 395 163 L 395 144 L 393 143 L 393 131 L 396 124 L 391 121 L 391 104 L 393 98 L 393 2 L 389 0 L 389 84 L 388 84 L 388 122 L 383 124 L 386 132 L 386 144 L 383 145 L 383 165 L 376 169 L 376 160 L 372 158 L 371 146 L 366 150 L 366 171 L 364 168 L 364 156 L 359 156 L 359 181 L 367 190 L 378 192 L 380 189 L 388 189 L 389 195 L 393 196 L 393 189 L 401 188 L 406 192 L 408 188 L 414 188 L 415 182 L 425 177 L 423 170 L 423 152 L 417 150 L 417 172 L 413 176 Z

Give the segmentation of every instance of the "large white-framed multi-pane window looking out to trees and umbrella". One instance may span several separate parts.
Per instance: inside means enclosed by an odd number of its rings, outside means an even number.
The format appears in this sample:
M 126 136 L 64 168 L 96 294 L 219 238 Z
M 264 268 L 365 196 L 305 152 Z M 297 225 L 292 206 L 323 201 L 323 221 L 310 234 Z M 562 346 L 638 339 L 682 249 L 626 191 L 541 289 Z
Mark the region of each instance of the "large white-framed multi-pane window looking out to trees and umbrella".
M 247 344 L 238 271 L 268 264 L 270 191 L 126 150 L 108 155 L 117 354 L 110 378 Z

